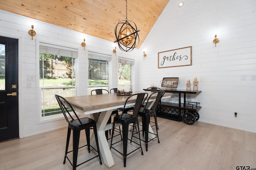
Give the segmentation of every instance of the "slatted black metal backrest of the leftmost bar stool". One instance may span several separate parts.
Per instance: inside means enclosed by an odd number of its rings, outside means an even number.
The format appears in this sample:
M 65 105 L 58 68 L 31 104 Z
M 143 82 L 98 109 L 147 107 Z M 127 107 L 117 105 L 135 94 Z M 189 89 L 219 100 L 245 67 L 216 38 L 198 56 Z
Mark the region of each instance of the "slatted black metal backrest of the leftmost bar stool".
M 58 101 L 60 109 L 61 109 L 66 121 L 68 122 L 68 124 L 70 124 L 70 121 L 75 120 L 71 115 L 71 113 L 72 113 L 76 116 L 76 119 L 79 121 L 79 123 L 81 123 L 81 125 L 83 125 L 82 122 L 80 121 L 79 117 L 77 116 L 76 112 L 74 111 L 73 107 L 71 106 L 71 104 L 62 96 L 55 94 L 55 97 Z

